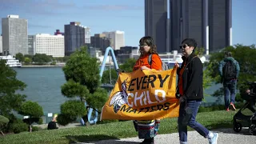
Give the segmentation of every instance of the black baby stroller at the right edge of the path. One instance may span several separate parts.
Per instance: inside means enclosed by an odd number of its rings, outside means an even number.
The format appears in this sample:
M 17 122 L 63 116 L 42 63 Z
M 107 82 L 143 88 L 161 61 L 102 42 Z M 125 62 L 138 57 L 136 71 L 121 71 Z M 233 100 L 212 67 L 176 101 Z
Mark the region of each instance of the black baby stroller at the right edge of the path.
M 241 107 L 240 110 L 233 117 L 233 130 L 240 132 L 243 127 L 249 127 L 250 134 L 256 135 L 256 82 L 248 82 L 250 86 L 250 92 L 242 94 L 242 99 L 246 100 L 246 103 Z M 252 115 L 242 114 L 244 110 L 250 110 Z

